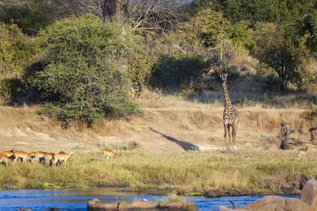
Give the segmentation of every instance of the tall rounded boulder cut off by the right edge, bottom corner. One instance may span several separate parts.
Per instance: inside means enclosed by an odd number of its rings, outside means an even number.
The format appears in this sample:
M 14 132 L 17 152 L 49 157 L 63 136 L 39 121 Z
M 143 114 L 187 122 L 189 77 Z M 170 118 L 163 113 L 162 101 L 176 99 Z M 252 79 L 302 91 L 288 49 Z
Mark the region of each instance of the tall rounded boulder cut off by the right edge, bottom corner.
M 299 199 L 311 206 L 312 209 L 317 210 L 317 181 L 315 179 L 306 182 Z

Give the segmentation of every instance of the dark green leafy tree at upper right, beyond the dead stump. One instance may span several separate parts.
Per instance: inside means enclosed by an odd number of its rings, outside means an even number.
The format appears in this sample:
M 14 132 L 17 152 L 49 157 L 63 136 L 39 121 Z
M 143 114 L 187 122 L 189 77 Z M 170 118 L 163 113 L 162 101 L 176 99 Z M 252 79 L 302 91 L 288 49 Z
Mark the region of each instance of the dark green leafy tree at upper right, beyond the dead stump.
M 278 73 L 283 82 L 282 90 L 290 84 L 296 84 L 299 90 L 305 89 L 309 79 L 309 72 L 302 68 L 309 58 L 305 45 L 309 33 L 300 37 L 293 32 L 294 27 L 274 23 L 258 23 L 254 32 L 256 46 L 251 53 Z

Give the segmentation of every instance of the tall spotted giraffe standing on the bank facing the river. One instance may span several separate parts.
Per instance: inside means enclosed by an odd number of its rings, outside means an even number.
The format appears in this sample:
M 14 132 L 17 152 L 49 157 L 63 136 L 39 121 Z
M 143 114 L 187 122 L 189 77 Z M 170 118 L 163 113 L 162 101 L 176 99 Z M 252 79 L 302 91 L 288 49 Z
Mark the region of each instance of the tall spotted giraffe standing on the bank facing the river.
M 227 149 L 227 132 L 229 134 L 229 146 L 228 151 L 230 151 L 230 127 L 232 128 L 232 141 L 233 141 L 233 150 L 237 151 L 237 146 L 235 145 L 235 136 L 237 135 L 237 124 L 239 122 L 239 113 L 237 109 L 235 109 L 230 101 L 230 97 L 228 95 L 227 90 L 227 73 L 220 75 L 223 80 L 223 94 L 225 96 L 225 110 L 223 110 L 223 126 L 225 127 L 225 147 L 223 151 Z

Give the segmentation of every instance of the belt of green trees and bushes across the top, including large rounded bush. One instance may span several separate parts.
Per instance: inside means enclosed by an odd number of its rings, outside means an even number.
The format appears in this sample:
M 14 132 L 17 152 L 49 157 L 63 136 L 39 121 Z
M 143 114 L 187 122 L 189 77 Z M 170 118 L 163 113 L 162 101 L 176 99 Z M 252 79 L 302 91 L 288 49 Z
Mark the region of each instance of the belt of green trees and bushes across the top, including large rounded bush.
M 0 8 L 1 68 L 24 71 L 1 86 L 28 87 L 67 124 L 139 113 L 129 90 L 192 89 L 210 72 L 252 69 L 269 92 L 317 82 L 317 0 L 5 0 Z

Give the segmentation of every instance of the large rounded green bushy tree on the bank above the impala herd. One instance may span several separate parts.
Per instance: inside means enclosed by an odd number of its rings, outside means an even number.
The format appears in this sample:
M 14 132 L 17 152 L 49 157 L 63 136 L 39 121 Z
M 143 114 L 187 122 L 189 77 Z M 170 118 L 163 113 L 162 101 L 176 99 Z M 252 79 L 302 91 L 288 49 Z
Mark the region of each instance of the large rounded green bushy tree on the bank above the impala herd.
M 66 125 L 90 125 L 100 117 L 141 112 L 128 90 L 135 77 L 130 61 L 138 60 L 143 49 L 125 25 L 88 15 L 58 21 L 40 36 L 46 53 L 25 77 L 32 95 L 46 102 L 46 113 Z

